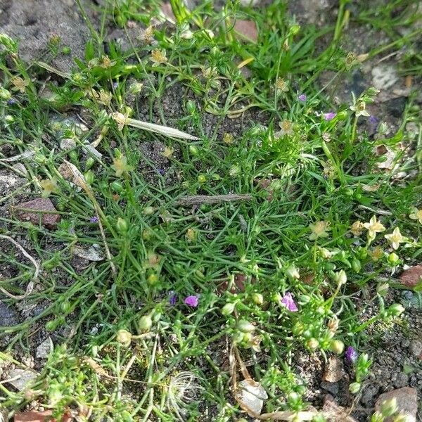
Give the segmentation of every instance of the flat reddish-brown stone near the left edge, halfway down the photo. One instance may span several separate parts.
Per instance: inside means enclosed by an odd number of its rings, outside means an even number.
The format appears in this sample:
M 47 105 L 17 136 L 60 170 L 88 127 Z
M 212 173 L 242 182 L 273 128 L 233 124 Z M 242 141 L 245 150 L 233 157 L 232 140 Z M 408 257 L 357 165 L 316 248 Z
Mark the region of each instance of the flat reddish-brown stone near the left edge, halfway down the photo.
M 17 217 L 23 222 L 32 222 L 32 224 L 41 224 L 47 229 L 54 229 L 60 221 L 60 215 L 49 198 L 36 198 L 17 206 Z M 25 209 L 25 210 L 23 210 Z M 30 210 L 33 210 L 31 212 Z

